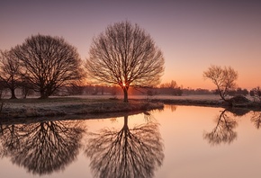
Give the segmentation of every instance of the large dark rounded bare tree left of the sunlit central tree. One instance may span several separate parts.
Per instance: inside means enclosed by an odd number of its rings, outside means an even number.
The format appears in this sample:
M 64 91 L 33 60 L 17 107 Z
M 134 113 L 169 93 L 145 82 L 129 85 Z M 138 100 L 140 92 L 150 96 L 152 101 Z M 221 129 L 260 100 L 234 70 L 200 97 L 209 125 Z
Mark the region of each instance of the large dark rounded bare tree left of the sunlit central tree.
M 38 34 L 12 51 L 21 60 L 23 78 L 40 92 L 40 98 L 48 98 L 58 88 L 73 83 L 82 75 L 76 48 L 62 38 Z

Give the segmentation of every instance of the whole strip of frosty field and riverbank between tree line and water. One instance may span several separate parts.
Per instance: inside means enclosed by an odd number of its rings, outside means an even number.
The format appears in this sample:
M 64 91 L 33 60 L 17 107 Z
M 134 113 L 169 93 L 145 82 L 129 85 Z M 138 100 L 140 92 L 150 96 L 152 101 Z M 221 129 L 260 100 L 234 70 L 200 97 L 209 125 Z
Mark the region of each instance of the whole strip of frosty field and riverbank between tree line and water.
M 3 103 L 1 107 L 1 103 Z M 111 95 L 51 97 L 46 100 L 37 98 L 0 100 L 0 118 L 36 118 L 50 116 L 76 116 L 95 118 L 97 115 L 110 115 L 115 112 L 141 112 L 163 109 L 164 104 L 195 105 L 207 107 L 222 107 L 228 105 L 217 95 L 187 95 L 187 96 L 130 96 L 130 102 L 122 102 L 121 97 Z M 255 102 L 237 103 L 238 108 L 259 110 Z M 2 108 L 2 109 L 1 109 Z

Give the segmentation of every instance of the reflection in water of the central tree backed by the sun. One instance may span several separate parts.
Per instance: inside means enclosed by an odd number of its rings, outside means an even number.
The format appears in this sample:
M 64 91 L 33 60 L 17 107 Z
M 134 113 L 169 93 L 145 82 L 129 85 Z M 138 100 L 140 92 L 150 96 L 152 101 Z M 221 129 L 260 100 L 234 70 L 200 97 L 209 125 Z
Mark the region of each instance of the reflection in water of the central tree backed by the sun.
M 101 129 L 88 136 L 85 155 L 91 159 L 94 177 L 153 177 L 164 159 L 158 123 L 152 120 L 129 129 L 125 115 L 121 130 Z

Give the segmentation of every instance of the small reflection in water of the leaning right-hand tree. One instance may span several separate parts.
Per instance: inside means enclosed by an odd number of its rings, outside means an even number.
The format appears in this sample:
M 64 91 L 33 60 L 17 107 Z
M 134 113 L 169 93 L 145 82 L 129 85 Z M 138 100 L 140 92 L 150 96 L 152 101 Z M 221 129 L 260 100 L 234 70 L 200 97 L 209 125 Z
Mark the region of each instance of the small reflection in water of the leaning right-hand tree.
M 203 138 L 207 139 L 212 146 L 220 145 L 221 143 L 231 143 L 237 138 L 237 132 L 234 129 L 238 126 L 238 122 L 229 117 L 231 113 L 228 110 L 221 111 L 217 117 L 217 125 L 211 132 L 203 133 Z M 233 113 L 235 114 L 235 113 Z

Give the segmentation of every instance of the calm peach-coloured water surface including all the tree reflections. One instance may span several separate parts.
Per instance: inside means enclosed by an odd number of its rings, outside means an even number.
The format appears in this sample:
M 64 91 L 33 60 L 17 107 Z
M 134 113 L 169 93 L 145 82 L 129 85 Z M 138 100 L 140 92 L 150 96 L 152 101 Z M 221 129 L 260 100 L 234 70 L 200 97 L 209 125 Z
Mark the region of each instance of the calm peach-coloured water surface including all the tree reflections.
M 101 120 L 2 124 L 1 177 L 260 177 L 261 112 L 165 105 Z

